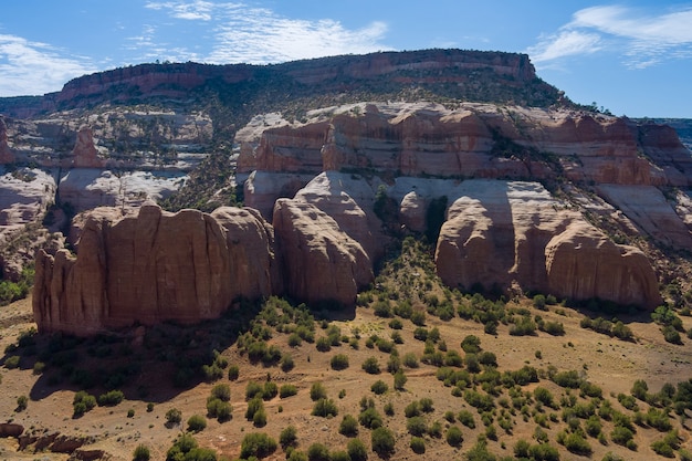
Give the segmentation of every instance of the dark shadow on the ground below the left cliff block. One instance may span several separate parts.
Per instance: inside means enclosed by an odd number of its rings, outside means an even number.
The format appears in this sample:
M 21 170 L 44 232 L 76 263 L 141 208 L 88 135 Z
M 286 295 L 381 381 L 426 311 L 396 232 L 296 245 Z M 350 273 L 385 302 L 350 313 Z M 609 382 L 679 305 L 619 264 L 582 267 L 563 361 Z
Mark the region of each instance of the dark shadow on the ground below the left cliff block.
M 104 332 L 91 337 L 24 332 L 0 359 L 8 368 L 33 370 L 29 397 L 41 400 L 61 390 L 99 396 L 120 390 L 128 400 L 164 402 L 201 383 L 229 379 L 234 365 L 261 364 L 281 373 L 282 349 L 266 345 L 286 311 L 268 302 L 241 302 L 221 318 L 180 325 L 161 323 Z M 303 312 L 303 311 L 301 311 Z M 303 314 L 302 314 L 303 315 Z M 304 315 L 314 324 L 312 315 Z M 239 344 L 239 338 L 242 340 Z M 263 344 L 258 356 L 251 344 Z M 238 347 L 233 347 L 238 345 Z M 254 355 L 253 355 L 254 354 Z

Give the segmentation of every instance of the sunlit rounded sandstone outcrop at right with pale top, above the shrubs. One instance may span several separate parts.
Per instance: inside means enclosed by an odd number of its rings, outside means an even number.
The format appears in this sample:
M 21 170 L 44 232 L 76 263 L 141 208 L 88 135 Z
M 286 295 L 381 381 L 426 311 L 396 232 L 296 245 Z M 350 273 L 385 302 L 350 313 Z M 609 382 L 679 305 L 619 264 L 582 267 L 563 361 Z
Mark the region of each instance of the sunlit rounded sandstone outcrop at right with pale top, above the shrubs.
M 463 186 L 436 250 L 445 284 L 489 289 L 489 282 L 500 287 L 516 282 L 575 300 L 660 303 L 656 274 L 640 250 L 614 243 L 542 186 L 499 180 Z

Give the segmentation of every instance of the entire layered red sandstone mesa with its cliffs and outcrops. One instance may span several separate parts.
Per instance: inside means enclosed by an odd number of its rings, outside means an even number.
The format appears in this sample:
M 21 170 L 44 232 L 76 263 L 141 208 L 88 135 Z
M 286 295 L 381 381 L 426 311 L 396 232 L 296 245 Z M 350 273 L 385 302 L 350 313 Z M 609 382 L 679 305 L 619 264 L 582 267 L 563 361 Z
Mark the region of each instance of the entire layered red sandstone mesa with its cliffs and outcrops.
M 277 82 L 298 107 L 259 111 Z M 384 82 L 398 86 L 374 93 Z M 219 85 L 224 108 L 182 102 Z M 147 64 L 20 103 L 0 102 L 3 232 L 50 209 L 62 235 L 36 252 L 41 332 L 195 323 L 273 294 L 353 306 L 408 235 L 431 239 L 437 274 L 462 291 L 653 308 L 661 284 L 688 283 L 652 248 L 692 249 L 690 150 L 667 125 L 569 102 L 524 55 Z M 213 188 L 245 208 L 156 205 L 214 156 L 231 174 Z

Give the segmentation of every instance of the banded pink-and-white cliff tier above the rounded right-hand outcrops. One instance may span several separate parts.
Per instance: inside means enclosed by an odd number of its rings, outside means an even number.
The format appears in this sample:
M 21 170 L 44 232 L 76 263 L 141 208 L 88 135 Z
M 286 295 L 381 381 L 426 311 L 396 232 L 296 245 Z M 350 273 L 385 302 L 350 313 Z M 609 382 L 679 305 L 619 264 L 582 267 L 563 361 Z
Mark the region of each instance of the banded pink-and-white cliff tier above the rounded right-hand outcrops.
M 574 111 L 361 103 L 310 112 L 303 123 L 258 117 L 235 140 L 241 174 L 368 169 L 616 185 L 692 180 L 692 157 L 673 130 Z

